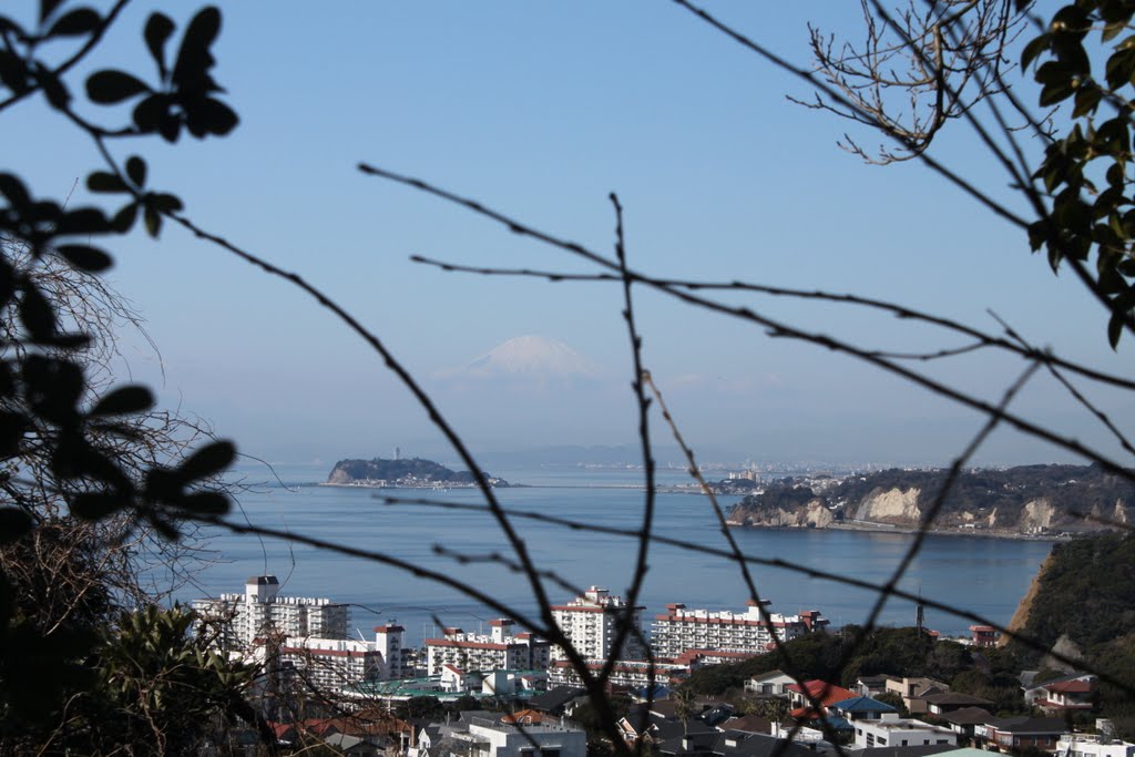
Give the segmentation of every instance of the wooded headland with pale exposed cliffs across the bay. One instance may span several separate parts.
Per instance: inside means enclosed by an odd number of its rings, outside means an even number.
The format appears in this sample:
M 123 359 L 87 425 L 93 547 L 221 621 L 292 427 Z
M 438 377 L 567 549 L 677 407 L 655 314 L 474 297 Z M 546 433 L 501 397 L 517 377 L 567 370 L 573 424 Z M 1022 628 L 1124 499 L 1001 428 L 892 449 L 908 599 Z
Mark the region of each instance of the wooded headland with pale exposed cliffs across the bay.
M 738 503 L 732 525 L 915 529 L 947 471 L 888 470 L 842 480 L 784 479 Z M 1135 523 L 1135 486 L 1098 465 L 972 470 L 955 481 L 934 531 L 993 536 L 1101 531 Z

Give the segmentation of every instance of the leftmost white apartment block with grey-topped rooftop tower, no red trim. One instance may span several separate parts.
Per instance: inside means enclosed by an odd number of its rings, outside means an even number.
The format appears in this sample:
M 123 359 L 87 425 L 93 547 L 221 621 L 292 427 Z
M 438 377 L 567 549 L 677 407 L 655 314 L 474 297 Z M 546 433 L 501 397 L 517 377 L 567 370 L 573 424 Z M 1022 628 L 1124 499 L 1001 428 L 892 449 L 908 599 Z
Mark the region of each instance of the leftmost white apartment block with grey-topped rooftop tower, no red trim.
M 350 622 L 346 605 L 323 598 L 280 597 L 275 575 L 253 575 L 245 581 L 243 595 L 194 599 L 192 607 L 202 624 L 216 624 L 217 646 L 228 651 L 246 650 L 255 639 L 269 634 L 345 639 Z

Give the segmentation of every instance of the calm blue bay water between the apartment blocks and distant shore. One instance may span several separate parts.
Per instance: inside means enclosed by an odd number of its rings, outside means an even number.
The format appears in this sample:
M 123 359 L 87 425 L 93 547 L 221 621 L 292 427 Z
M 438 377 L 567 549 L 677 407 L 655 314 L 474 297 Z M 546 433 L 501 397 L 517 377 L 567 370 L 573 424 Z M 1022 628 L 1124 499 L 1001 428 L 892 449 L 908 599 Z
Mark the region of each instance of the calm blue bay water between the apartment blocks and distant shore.
M 277 469 L 287 488 L 258 487 L 241 497 L 241 506 L 255 524 L 287 529 L 345 546 L 378 550 L 427 569 L 448 572 L 524 612 L 535 603 L 527 581 L 493 563 L 457 564 L 439 555 L 435 546 L 470 556 L 505 550 L 499 528 L 487 513 L 445 511 L 414 505 L 388 506 L 375 490 L 316 486 L 326 479 L 326 468 Z M 494 471 L 514 483 L 531 488 L 499 489 L 506 507 L 540 512 L 616 528 L 637 528 L 642 493 L 614 488 L 641 482 L 636 471 L 581 470 L 574 468 L 529 471 Z M 252 480 L 263 480 L 262 470 Z M 659 482 L 684 483 L 676 471 L 664 471 Z M 609 488 L 608 488 L 609 487 Z M 386 490 L 395 496 L 426 496 L 455 503 L 479 503 L 471 490 Z M 723 497 L 729 507 L 738 497 Z M 533 521 L 515 521 L 540 567 L 555 571 L 575 586 L 599 584 L 624 592 L 634 561 L 634 544 L 620 536 L 587 533 Z M 689 494 L 659 494 L 656 532 L 662 536 L 724 547 L 725 542 L 708 501 Z M 839 575 L 873 582 L 885 581 L 901 560 L 909 536 L 822 530 L 735 529 L 746 555 L 776 557 Z M 195 574 L 196 586 L 179 592 L 180 599 L 241 591 L 244 579 L 275 573 L 281 594 L 327 596 L 348 602 L 353 624 L 368 637 L 370 629 L 389 619 L 406 628 L 409 641 L 434 636 L 436 621 L 466 631 L 488 630 L 497 616 L 453 590 L 417 579 L 396 569 L 281 540 L 211 535 L 207 556 L 211 563 Z M 911 592 L 965 607 L 999 623 L 1008 622 L 1051 548 L 1039 541 L 1010 541 L 974 537 L 930 537 L 902 582 Z M 642 604 L 647 616 L 671 602 L 688 607 L 740 611 L 747 599 L 745 582 L 735 565 L 726 561 L 657 545 L 651 548 Z M 874 595 L 785 571 L 753 566 L 757 588 L 771 599 L 772 609 L 796 613 L 816 608 L 834 625 L 863 622 Z M 570 594 L 548 586 L 553 602 Z M 883 622 L 910 625 L 915 607 L 891 599 Z M 927 609 L 926 625 L 948 634 L 960 634 L 970 621 Z

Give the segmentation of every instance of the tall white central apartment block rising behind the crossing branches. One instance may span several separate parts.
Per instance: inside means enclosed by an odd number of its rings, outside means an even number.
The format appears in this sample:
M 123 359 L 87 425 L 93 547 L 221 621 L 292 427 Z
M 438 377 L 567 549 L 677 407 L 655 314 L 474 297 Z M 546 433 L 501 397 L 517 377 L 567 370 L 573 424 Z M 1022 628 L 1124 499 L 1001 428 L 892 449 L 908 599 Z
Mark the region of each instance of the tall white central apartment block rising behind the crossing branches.
M 620 597 L 612 597 L 607 589 L 592 586 L 582 597 L 566 605 L 553 605 L 552 615 L 564 636 L 585 659 L 606 659 L 614 654 L 620 659 L 642 659 L 646 655 L 639 641 L 642 630 L 644 607 L 628 607 Z M 622 649 L 614 650 L 620 620 L 630 613 L 634 632 L 627 634 Z M 552 663 L 566 659 L 560 646 L 552 648 Z

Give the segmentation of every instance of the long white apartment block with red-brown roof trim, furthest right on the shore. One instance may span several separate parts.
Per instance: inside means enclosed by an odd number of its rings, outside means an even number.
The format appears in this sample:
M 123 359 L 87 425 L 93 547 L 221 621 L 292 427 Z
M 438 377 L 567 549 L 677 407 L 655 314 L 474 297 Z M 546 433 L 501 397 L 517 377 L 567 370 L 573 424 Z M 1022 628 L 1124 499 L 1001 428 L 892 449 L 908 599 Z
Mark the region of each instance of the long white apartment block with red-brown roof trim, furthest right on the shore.
M 688 609 L 675 603 L 666 605 L 665 614 L 655 616 L 650 644 L 654 654 L 665 658 L 679 657 L 693 649 L 759 655 L 773 647 L 773 634 L 781 641 L 789 641 L 819 631 L 827 623 L 816 609 L 798 615 L 773 613 L 766 622 L 760 607 L 751 600 L 743 613 Z

